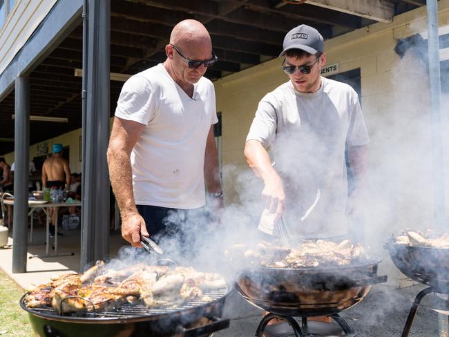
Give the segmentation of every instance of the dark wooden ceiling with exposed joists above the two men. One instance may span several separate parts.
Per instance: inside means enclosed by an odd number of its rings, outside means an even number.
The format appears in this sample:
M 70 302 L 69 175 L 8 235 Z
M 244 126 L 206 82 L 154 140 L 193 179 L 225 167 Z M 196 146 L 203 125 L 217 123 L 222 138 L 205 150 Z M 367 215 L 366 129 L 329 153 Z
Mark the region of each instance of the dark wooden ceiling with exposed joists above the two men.
M 173 26 L 197 19 L 211 34 L 220 61 L 209 68 L 211 80 L 278 56 L 285 33 L 306 23 L 325 39 L 376 21 L 307 3 L 280 0 L 111 0 L 111 73 L 135 74 L 164 61 Z M 394 15 L 423 6 L 426 0 L 390 0 Z M 67 117 L 68 123 L 30 122 L 30 144 L 82 126 L 82 26 L 30 74 L 31 115 Z M 123 81 L 111 81 L 111 115 Z M 14 92 L 0 102 L 0 154 L 14 151 Z

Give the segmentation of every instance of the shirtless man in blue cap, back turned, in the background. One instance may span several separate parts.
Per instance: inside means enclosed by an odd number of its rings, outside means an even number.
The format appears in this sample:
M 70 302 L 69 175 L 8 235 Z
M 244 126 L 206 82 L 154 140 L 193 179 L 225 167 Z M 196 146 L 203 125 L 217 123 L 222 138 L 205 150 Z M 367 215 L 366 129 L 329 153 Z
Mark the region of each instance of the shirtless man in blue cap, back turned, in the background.
M 53 154 L 42 166 L 42 186 L 48 189 L 52 187 L 56 187 L 57 189 L 68 188 L 70 186 L 70 177 L 71 173 L 68 160 L 62 157 L 62 144 L 53 144 Z M 53 209 L 48 209 L 48 211 L 50 211 L 52 222 L 50 233 L 55 233 L 55 211 Z

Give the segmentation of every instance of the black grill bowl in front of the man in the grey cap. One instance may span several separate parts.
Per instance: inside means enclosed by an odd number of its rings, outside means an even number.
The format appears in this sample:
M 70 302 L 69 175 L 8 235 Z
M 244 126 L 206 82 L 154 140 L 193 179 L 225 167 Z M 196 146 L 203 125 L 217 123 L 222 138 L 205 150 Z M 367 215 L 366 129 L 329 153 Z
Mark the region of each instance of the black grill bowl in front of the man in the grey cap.
M 380 260 L 371 258 L 346 267 L 268 268 L 243 271 L 236 289 L 252 305 L 283 316 L 335 314 L 363 300 L 375 283 Z

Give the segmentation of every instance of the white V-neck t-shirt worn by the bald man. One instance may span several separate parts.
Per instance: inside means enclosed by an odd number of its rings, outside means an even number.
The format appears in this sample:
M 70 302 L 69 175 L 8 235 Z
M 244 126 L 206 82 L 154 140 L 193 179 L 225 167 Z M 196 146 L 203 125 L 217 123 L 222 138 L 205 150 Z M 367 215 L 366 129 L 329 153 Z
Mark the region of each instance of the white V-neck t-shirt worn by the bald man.
M 212 82 L 202 77 L 189 97 L 158 64 L 126 81 L 115 116 L 146 125 L 131 153 L 135 203 L 204 206 L 204 153 L 218 122 Z

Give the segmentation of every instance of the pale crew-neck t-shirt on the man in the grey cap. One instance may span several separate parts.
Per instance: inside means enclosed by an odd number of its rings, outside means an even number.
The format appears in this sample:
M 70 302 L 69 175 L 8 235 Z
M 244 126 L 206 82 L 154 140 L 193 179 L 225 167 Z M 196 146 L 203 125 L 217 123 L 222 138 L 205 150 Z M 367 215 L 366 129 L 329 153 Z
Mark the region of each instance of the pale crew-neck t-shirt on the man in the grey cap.
M 321 81 L 316 93 L 299 93 L 288 81 L 265 95 L 247 136 L 271 146 L 287 195 L 285 222 L 302 238 L 347 232 L 345 144 L 370 142 L 354 89 L 325 77 Z

